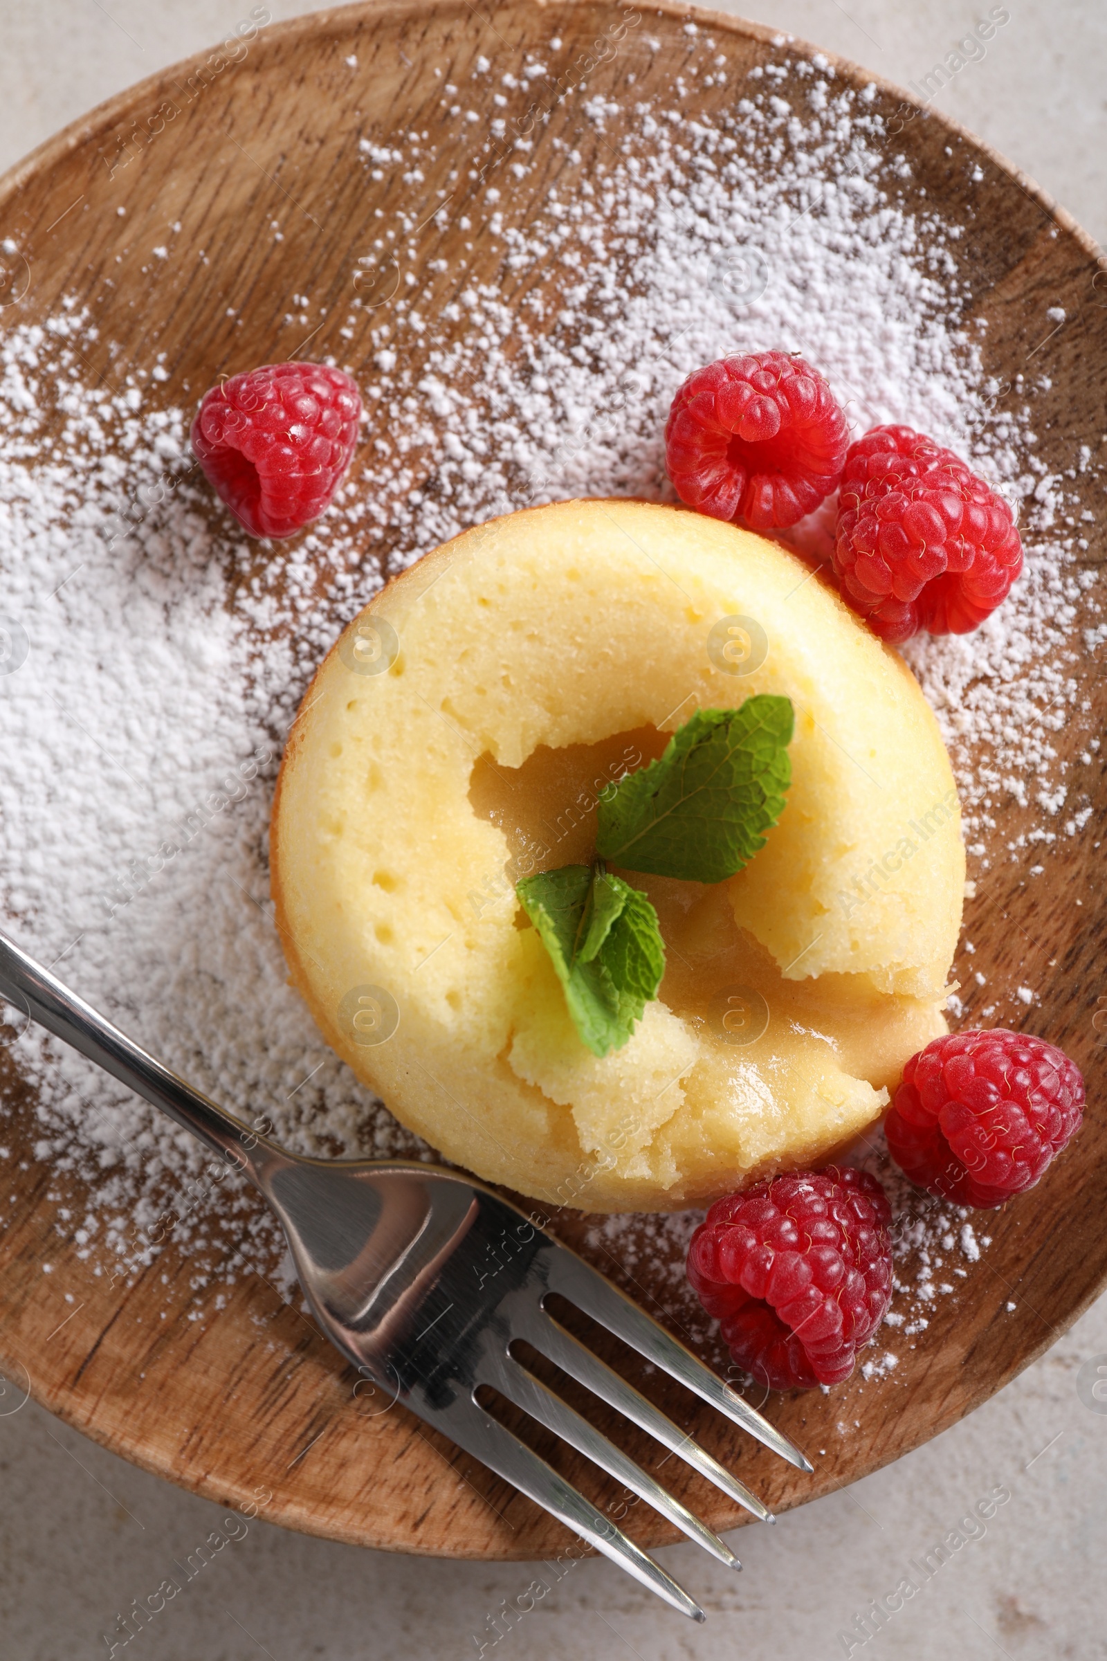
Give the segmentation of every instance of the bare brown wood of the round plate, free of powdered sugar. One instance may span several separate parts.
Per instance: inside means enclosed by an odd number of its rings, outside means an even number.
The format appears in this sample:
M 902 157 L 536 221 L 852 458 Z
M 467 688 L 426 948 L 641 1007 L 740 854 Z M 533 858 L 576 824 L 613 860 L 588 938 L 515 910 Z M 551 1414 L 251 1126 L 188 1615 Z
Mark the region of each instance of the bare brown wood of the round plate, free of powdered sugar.
M 91 307 L 100 342 L 124 342 L 126 367 L 151 369 L 156 354 L 166 354 L 168 400 L 188 402 L 183 385 L 191 385 L 196 397 L 222 369 L 290 355 L 302 344 L 302 331 L 294 321 L 289 326 L 289 296 L 310 289 L 337 319 L 349 304 L 352 249 L 368 247 L 377 234 L 375 199 L 355 161 L 357 136 L 367 121 L 372 118 L 382 136 L 436 130 L 443 83 L 432 66 L 445 66 L 446 78 L 465 81 L 466 96 L 481 105 L 478 149 L 488 156 L 495 111 L 491 88 L 478 91 L 470 80 L 478 55 L 495 50 L 521 63 L 538 40 L 546 50 L 556 25 L 561 45 L 551 73 L 568 75 L 597 35 L 624 22 L 622 10 L 606 0 L 493 5 L 485 15 L 466 0 L 378 3 L 302 18 L 266 30 L 249 43 L 244 61 L 206 55 L 103 105 L 0 186 L 0 236 L 22 251 L 5 257 L 0 297 L 12 304 L 0 322 L 45 319 L 61 296 L 75 296 Z M 672 65 L 699 50 L 685 32 L 689 15 L 674 5 L 651 8 L 641 28 L 626 32 L 621 50 L 589 71 L 589 91 L 626 105 L 662 91 Z M 765 30 L 729 17 L 694 15 L 725 45 L 739 73 L 785 50 L 773 47 Z M 661 50 L 649 50 L 647 32 Z M 838 73 L 856 86 L 870 80 L 848 65 L 838 65 Z M 631 75 L 632 95 L 621 96 Z M 699 88 L 705 110 L 732 96 Z M 878 111 L 893 115 L 900 106 L 898 91 L 876 90 Z M 538 199 L 558 176 L 563 151 L 553 140 L 571 131 L 571 120 L 563 103 L 549 126 L 536 130 L 536 166 L 519 184 L 519 221 L 526 218 L 524 193 Z M 607 120 L 611 136 L 622 116 Z M 584 151 L 591 143 L 579 126 L 574 141 Z M 1039 384 L 1034 404 L 1039 453 L 1054 473 L 1064 475 L 1075 463 L 1077 447 L 1087 443 L 1097 452 L 1107 432 L 1107 276 L 1095 249 L 1031 183 L 948 121 L 934 115 L 906 121 L 891 140 L 890 153 L 896 149 L 911 161 L 903 184 L 906 204 L 918 204 L 924 193 L 928 206 L 941 203 L 943 213 L 964 226 L 961 269 L 976 311 L 988 319 L 988 369 L 1014 382 L 1037 352 L 1032 367 L 1049 379 Z M 971 163 L 979 176 L 969 191 L 964 181 Z M 428 211 L 436 184 L 432 169 L 425 181 Z M 261 234 L 277 214 L 280 244 Z M 174 219 L 186 236 L 202 243 L 206 262 L 154 261 L 139 272 L 126 251 L 154 246 Z M 420 234 L 422 257 L 430 259 L 436 231 L 428 226 Z M 116 256 L 124 256 L 126 264 Z M 483 243 L 473 254 L 475 269 L 496 281 L 501 251 Z M 124 281 L 108 282 L 121 271 Z M 445 304 L 451 286 L 463 281 L 443 277 L 435 304 Z M 229 304 L 239 316 L 229 314 Z M 1042 350 L 1046 306 L 1062 306 L 1069 322 Z M 367 314 L 365 327 L 342 345 L 324 329 L 312 350 L 340 350 L 355 372 L 363 369 L 372 379 L 370 321 Z M 85 352 L 90 375 L 111 372 L 103 345 Z M 115 372 L 121 372 L 118 360 Z M 1085 490 L 1089 507 L 1100 508 L 1092 500 L 1090 475 L 1070 485 Z M 1089 525 L 1087 540 L 1085 563 L 1100 565 L 1102 528 Z M 382 546 L 387 560 L 387 538 Z M 1094 621 L 1092 611 L 1079 613 L 1072 628 Z M 1090 701 L 1102 729 L 1107 696 L 1090 654 L 1072 673 L 1082 679 L 1080 696 Z M 1070 754 L 1084 746 L 1085 726 L 1082 718 L 1079 733 L 1074 726 L 1061 733 L 1057 749 Z M 1102 819 L 1102 769 L 1085 767 L 1084 777 L 1090 779 L 1094 811 Z M 770 1400 L 767 1412 L 788 1435 L 817 1457 L 827 1450 L 813 1477 L 798 1477 L 744 1438 L 730 1437 L 675 1387 L 644 1382 L 709 1447 L 735 1458 L 745 1480 L 777 1510 L 851 1482 L 954 1423 L 1056 1339 L 1107 1279 L 1104 1050 L 1097 1048 L 1092 1025 L 1107 907 L 1094 830 L 1061 835 L 1046 874 L 1027 885 L 1022 867 L 1004 854 L 1027 816 L 1009 802 L 994 817 L 994 829 L 983 832 L 994 855 L 986 899 L 968 905 L 966 932 L 976 955 L 971 963 L 961 960 L 959 978 L 971 983 L 969 970 L 981 968 L 992 985 L 1032 982 L 1041 1003 L 1021 1013 L 1031 1030 L 1062 1043 L 1084 1068 L 1090 1086 L 1087 1121 L 1074 1154 L 1029 1198 L 1004 1214 L 976 1219 L 978 1227 L 989 1229 L 991 1247 L 961 1291 L 936 1301 L 924 1337 L 903 1349 L 890 1379 L 866 1380 L 858 1370 L 828 1395 Z M 981 1002 L 968 998 L 966 1020 L 974 1013 L 979 1018 Z M 1012 1020 L 1014 1010 L 1002 1015 Z M 106 1276 L 93 1279 L 75 1242 L 58 1232 L 56 1196 L 81 1216 L 81 1184 L 61 1181 L 35 1163 L 35 1105 L 15 1061 L 17 1051 L 0 1051 L 5 1141 L 15 1154 L 7 1169 L 20 1166 L 0 1242 L 0 1352 L 8 1380 L 0 1407 L 8 1410 L 30 1392 L 148 1470 L 335 1540 L 470 1558 L 539 1558 L 568 1545 L 568 1535 L 529 1502 L 402 1410 L 380 1397 L 355 1397 L 352 1372 L 261 1277 L 232 1286 L 221 1312 L 209 1302 L 201 1319 L 191 1320 L 184 1316 L 198 1307 L 189 1286 L 193 1264 L 173 1237 L 156 1267 L 131 1287 L 113 1289 Z M 566 1218 L 564 1229 L 581 1239 L 586 1224 Z M 596 1242 L 588 1249 L 674 1329 L 687 1327 L 689 1306 L 672 1272 L 675 1252 L 659 1264 L 644 1251 L 641 1267 L 631 1272 L 629 1254 L 616 1262 Z M 43 1261 L 53 1264 L 50 1282 L 43 1281 Z M 81 1287 L 73 1307 L 48 1294 L 61 1281 Z M 171 1317 L 159 1320 L 166 1307 Z M 702 1329 L 694 1337 L 719 1364 L 722 1357 Z M 626 1357 L 622 1365 L 634 1372 Z M 856 1428 L 841 1435 L 835 1428 L 841 1423 Z M 652 1457 L 634 1438 L 627 1447 Z M 626 1510 L 617 1490 L 597 1482 L 594 1472 L 579 1470 L 574 1460 L 566 1460 L 566 1470 L 612 1515 Z M 740 1520 L 679 1462 L 667 1467 L 666 1480 L 715 1526 Z M 644 1543 L 674 1538 L 644 1507 L 629 1515 L 626 1526 Z

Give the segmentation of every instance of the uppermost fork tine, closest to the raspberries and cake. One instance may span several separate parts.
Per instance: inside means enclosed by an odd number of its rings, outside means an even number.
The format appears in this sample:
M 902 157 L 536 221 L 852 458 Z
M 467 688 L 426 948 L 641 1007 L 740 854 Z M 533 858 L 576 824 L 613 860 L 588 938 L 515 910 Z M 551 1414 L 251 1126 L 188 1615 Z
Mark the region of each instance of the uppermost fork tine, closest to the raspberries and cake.
M 785 1435 L 770 1425 L 767 1418 L 762 1418 L 757 1409 L 744 1402 L 737 1390 L 724 1384 L 710 1367 L 705 1367 L 684 1344 L 671 1337 L 652 1316 L 647 1316 L 644 1309 L 631 1302 L 617 1286 L 606 1281 L 597 1269 L 593 1269 L 576 1252 L 554 1244 L 546 1259 L 546 1271 L 551 1292 L 561 1292 L 571 1304 L 583 1309 L 586 1316 L 609 1327 L 624 1344 L 636 1349 L 639 1355 L 646 1355 L 656 1367 L 661 1367 L 671 1377 L 687 1385 L 704 1402 L 709 1402 L 742 1430 L 747 1430 L 767 1448 L 772 1448 L 773 1453 L 785 1458 L 788 1465 L 795 1465 L 797 1470 L 815 1468 Z

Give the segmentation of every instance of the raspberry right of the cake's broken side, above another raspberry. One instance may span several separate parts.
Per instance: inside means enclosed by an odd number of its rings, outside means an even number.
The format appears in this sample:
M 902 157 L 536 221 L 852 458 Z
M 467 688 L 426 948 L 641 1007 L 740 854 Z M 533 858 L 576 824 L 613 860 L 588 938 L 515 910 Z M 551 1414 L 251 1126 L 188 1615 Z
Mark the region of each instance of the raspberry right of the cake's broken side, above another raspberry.
M 1034 1188 L 1082 1115 L 1084 1080 L 1064 1050 L 992 1026 L 911 1056 L 885 1128 L 913 1183 L 991 1209 Z

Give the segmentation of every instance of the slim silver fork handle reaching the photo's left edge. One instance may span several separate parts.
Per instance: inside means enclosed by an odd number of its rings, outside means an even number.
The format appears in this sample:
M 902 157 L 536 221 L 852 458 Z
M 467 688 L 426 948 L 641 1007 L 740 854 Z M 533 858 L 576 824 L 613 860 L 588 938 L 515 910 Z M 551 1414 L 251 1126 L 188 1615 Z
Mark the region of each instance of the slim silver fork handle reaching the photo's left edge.
M 198 1136 L 212 1153 L 236 1164 L 257 1183 L 251 1153 L 257 1148 L 276 1153 L 264 1136 L 257 1136 L 241 1120 L 217 1108 L 193 1090 L 168 1066 L 148 1055 L 133 1038 L 98 1015 L 83 998 L 70 992 L 56 975 L 22 952 L 0 933 L 0 995 L 55 1038 L 73 1045 L 119 1083 L 151 1101 L 186 1131 Z

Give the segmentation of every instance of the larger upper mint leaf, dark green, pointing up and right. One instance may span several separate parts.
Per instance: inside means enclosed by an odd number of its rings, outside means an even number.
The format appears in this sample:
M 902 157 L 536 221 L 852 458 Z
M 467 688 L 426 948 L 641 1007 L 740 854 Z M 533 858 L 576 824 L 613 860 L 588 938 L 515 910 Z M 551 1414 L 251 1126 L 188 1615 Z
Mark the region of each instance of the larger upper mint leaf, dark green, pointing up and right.
M 599 801 L 596 854 L 627 870 L 724 882 L 765 845 L 792 782 L 787 698 L 697 709 L 649 767 Z

